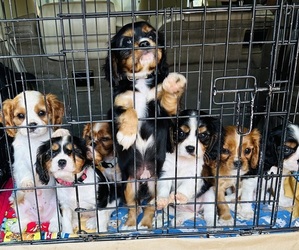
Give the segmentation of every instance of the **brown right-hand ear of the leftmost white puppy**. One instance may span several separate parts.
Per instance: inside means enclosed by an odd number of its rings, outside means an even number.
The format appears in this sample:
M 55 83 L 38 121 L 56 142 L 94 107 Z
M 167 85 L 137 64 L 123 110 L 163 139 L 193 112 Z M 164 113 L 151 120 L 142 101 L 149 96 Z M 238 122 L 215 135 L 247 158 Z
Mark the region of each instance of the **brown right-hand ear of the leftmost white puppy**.
M 52 124 L 61 124 L 62 118 L 64 115 L 64 105 L 61 101 L 58 100 L 56 95 L 47 94 L 46 102 L 48 111 L 50 113 L 50 119 Z M 58 127 L 54 127 L 56 130 Z

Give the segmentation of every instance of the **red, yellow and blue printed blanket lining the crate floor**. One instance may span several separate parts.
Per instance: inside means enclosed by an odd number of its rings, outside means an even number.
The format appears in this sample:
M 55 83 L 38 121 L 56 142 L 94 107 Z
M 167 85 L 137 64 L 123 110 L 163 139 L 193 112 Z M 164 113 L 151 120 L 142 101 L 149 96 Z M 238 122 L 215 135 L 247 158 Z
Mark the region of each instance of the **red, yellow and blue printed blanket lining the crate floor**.
M 4 189 L 11 189 L 13 187 L 12 181 L 9 180 L 6 183 L 6 186 Z M 295 206 L 293 208 L 293 211 L 285 210 L 285 209 L 278 209 L 277 216 L 275 217 L 275 220 L 273 220 L 273 207 L 271 205 L 260 205 L 259 206 L 259 219 L 258 219 L 258 225 L 260 227 L 265 228 L 289 228 L 289 227 L 299 227 L 299 218 L 298 218 L 298 212 L 299 212 L 299 187 L 297 185 L 297 180 L 294 177 L 290 177 L 285 182 L 285 191 L 288 194 L 289 197 L 294 197 L 295 194 Z M 0 230 L 0 242 L 10 242 L 10 241 L 21 241 L 21 240 L 50 240 L 50 239 L 62 239 L 62 238 L 72 238 L 72 237 L 79 237 L 78 234 L 66 234 L 66 233 L 50 233 L 48 231 L 49 223 L 43 223 L 41 225 L 38 225 L 36 222 L 31 222 L 27 225 L 26 231 L 22 234 L 12 233 L 10 231 L 10 226 L 12 223 L 15 223 L 17 221 L 15 216 L 15 211 L 9 204 L 9 196 L 11 194 L 11 191 L 1 191 L 0 192 L 0 220 L 2 221 L 1 230 Z M 254 206 L 254 205 L 252 205 Z M 254 208 L 254 207 L 253 207 Z M 199 215 L 196 218 L 196 221 L 194 220 L 187 220 L 183 223 L 181 227 L 174 228 L 171 226 L 170 221 L 164 222 L 164 225 L 162 225 L 160 228 L 153 229 L 151 231 L 149 230 L 139 230 L 135 232 L 128 232 L 128 231 L 122 231 L 124 222 L 127 218 L 127 209 L 125 207 L 119 208 L 117 211 L 114 211 L 111 215 L 110 225 L 108 227 L 108 234 L 112 235 L 113 233 L 123 233 L 123 234 L 131 234 L 132 236 L 137 236 L 138 234 L 177 234 L 177 235 L 184 235 L 188 233 L 192 233 L 196 236 L 196 232 L 200 232 L 200 237 L 205 237 L 204 232 L 208 232 L 208 230 L 205 226 L 205 221 L 201 218 Z M 232 216 L 234 217 L 233 210 L 231 211 Z M 160 214 L 161 216 L 161 214 Z M 142 218 L 142 214 L 139 216 Z M 170 219 L 173 217 L 170 216 Z M 217 234 L 215 237 L 227 237 L 237 235 L 236 233 L 227 234 L 225 231 L 231 231 L 234 229 L 234 232 L 236 232 L 236 229 L 246 229 L 252 228 L 251 226 L 254 225 L 253 220 L 242 220 L 240 218 L 236 218 L 236 226 L 234 228 L 232 227 L 223 227 L 221 228 L 221 231 L 224 233 Z M 82 222 L 82 230 L 85 230 L 84 228 L 84 221 Z M 217 228 L 218 230 L 218 228 Z M 85 230 L 88 233 L 88 230 Z M 219 231 L 218 231 L 219 232 Z M 106 237 L 107 234 L 101 234 L 100 236 Z

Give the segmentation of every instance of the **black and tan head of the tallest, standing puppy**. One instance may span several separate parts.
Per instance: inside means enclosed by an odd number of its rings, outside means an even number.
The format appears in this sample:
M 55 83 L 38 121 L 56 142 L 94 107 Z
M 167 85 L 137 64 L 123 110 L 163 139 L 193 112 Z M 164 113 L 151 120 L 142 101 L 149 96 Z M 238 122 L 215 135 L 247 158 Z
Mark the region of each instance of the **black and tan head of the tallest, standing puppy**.
M 147 22 L 130 23 L 122 27 L 111 40 L 111 65 L 106 58 L 106 79 L 115 84 L 123 78 L 147 78 L 156 67 L 157 74 L 168 74 L 163 36 Z M 163 77 L 163 78 L 164 78 Z

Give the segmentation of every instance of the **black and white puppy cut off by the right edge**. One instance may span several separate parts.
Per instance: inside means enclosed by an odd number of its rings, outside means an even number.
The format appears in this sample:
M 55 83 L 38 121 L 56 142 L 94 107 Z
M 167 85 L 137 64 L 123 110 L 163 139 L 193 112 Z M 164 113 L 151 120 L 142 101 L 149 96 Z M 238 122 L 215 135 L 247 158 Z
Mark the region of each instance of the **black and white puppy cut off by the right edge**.
M 285 132 L 285 138 L 283 134 Z M 284 192 L 284 182 L 288 175 L 293 171 L 299 171 L 299 126 L 297 124 L 287 124 L 286 129 L 278 126 L 269 133 L 264 164 L 263 188 L 270 192 L 274 197 L 279 197 L 279 206 L 290 207 L 293 199 L 286 197 Z M 282 161 L 282 162 L 280 162 Z M 282 171 L 278 167 L 282 164 Z M 269 176 L 273 176 L 273 180 Z M 275 177 L 276 175 L 276 177 Z M 279 177 L 280 176 L 280 177 Z M 279 179 L 281 178 L 280 189 L 278 190 Z M 275 194 L 279 192 L 279 195 Z

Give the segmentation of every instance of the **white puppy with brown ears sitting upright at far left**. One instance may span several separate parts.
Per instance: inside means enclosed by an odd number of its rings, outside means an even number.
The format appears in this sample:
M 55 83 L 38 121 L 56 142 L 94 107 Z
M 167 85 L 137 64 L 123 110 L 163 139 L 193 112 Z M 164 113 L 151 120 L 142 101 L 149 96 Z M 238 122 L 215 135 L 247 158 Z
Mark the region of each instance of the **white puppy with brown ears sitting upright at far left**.
M 63 103 L 55 95 L 43 95 L 38 91 L 24 91 L 2 104 L 1 120 L 7 134 L 13 137 L 13 179 L 17 191 L 10 201 L 19 219 L 11 227 L 13 232 L 22 232 L 29 222 L 39 219 L 50 221 L 50 231 L 58 230 L 55 191 L 35 190 L 43 185 L 36 176 L 34 164 L 37 148 L 50 138 L 56 128 L 54 125 L 61 124 L 63 114 Z

